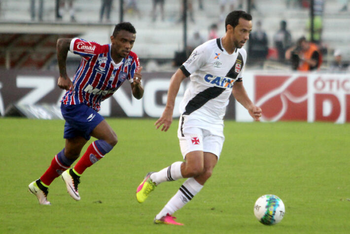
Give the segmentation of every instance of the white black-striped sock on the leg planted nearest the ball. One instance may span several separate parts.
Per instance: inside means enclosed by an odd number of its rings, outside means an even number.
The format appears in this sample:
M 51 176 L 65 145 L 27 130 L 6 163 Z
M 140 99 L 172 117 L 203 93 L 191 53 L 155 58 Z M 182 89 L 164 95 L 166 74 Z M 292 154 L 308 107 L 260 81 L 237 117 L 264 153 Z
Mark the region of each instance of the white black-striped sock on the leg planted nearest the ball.
M 174 214 L 176 210 L 181 209 L 187 202 L 192 200 L 194 195 L 198 194 L 203 185 L 198 183 L 193 177 L 189 178 L 181 185 L 177 193 L 168 201 L 164 208 L 156 215 L 156 219 Z

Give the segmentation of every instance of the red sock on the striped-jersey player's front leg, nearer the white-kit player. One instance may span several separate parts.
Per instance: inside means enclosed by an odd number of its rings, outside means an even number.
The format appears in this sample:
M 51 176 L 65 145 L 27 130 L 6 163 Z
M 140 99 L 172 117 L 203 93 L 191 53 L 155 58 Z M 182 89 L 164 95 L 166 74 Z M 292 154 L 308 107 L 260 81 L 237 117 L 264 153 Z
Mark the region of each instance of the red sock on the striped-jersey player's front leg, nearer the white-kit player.
M 86 168 L 103 158 L 104 155 L 99 151 L 95 142 L 87 148 L 85 154 L 75 164 L 74 170 L 79 173 L 79 176 L 85 171 Z

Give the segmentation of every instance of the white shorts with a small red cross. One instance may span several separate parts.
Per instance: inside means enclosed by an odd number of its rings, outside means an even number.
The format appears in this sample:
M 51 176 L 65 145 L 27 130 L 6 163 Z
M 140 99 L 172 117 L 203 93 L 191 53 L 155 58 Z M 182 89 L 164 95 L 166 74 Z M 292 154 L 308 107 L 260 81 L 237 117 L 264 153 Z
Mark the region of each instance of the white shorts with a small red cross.
M 180 117 L 180 121 L 177 129 L 177 137 L 180 142 L 180 150 L 183 158 L 192 151 L 203 151 L 209 152 L 220 158 L 222 146 L 225 141 L 225 137 L 217 134 L 217 126 L 210 128 L 204 126 L 193 126 L 190 124 L 191 121 L 183 121 L 183 117 Z M 196 125 L 196 124 L 195 124 Z

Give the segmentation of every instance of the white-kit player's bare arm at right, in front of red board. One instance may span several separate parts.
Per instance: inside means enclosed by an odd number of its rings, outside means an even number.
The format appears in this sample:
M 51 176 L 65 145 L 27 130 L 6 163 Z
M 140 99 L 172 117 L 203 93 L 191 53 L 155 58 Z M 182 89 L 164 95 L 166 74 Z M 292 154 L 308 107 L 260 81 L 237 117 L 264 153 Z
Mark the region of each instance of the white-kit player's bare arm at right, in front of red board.
M 249 115 L 254 118 L 255 121 L 259 121 L 261 117 L 260 107 L 255 106 L 249 99 L 248 94 L 245 91 L 243 82 L 235 82 L 232 87 L 232 94 L 236 100 L 248 110 Z

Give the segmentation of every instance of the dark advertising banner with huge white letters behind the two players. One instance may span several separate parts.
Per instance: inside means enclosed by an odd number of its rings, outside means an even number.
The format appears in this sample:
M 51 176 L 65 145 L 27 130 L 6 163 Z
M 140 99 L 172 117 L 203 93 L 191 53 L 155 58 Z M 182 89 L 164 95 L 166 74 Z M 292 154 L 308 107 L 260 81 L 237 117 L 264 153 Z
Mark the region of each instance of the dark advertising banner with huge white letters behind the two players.
M 69 72 L 73 78 L 74 71 Z M 112 97 L 101 103 L 100 114 L 105 117 L 155 117 L 162 115 L 173 73 L 142 72 L 143 98 L 132 96 L 130 83 L 125 81 Z M 57 86 L 55 71 L 0 70 L 0 115 L 21 111 L 30 118 L 57 118 L 65 90 Z M 174 117 L 179 117 L 179 103 L 188 84 L 182 82 L 175 100 Z M 235 117 L 235 102 L 231 98 L 226 118 Z M 51 107 L 50 107 L 51 106 Z M 11 110 L 9 110 L 11 108 Z M 26 110 L 25 110 L 26 109 Z

